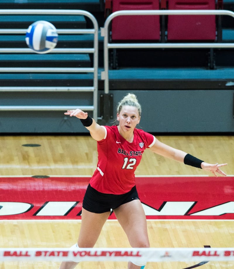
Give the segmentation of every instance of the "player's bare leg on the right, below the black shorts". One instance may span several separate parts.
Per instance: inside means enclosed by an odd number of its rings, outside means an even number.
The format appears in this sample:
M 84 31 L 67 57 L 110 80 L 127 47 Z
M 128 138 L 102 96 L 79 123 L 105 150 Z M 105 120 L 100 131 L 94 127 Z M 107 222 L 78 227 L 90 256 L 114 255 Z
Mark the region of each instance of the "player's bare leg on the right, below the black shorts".
M 132 247 L 149 247 L 149 237 L 144 209 L 140 200 L 133 200 L 114 210 Z M 128 269 L 140 269 L 134 263 L 128 263 Z

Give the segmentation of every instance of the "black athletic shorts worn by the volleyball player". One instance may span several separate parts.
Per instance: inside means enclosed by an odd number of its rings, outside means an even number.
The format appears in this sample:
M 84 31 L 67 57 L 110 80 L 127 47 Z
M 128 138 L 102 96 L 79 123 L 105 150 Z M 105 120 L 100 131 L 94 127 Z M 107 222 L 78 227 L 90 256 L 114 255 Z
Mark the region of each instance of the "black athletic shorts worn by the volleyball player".
M 125 194 L 106 194 L 98 192 L 89 184 L 85 192 L 83 208 L 93 213 L 104 213 L 135 199 L 139 199 L 136 186 Z

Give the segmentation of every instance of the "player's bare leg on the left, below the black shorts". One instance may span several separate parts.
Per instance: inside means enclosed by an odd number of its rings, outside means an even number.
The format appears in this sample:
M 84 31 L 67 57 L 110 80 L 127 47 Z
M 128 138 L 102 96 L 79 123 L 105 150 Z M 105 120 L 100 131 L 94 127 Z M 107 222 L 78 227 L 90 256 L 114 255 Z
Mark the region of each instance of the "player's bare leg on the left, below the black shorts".
M 91 248 L 95 245 L 109 215 L 110 212 L 97 214 L 82 208 L 82 221 L 78 238 L 79 247 Z M 62 262 L 59 269 L 74 269 L 77 264 L 75 262 Z

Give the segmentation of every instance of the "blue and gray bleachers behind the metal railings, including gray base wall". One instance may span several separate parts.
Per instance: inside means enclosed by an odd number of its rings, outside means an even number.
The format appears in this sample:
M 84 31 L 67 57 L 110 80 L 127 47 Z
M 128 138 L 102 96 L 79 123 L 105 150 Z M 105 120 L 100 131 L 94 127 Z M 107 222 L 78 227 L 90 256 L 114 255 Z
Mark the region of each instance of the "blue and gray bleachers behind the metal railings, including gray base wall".
M 234 10 L 234 1 L 224 0 L 224 9 Z M 81 9 L 94 14 L 99 27 L 104 24 L 104 1 L 2 0 L 1 8 Z M 0 28 L 27 28 L 36 20 L 48 20 L 61 27 L 89 28 L 82 15 L 1 15 Z M 233 42 L 233 19 L 222 20 L 223 42 Z M 91 35 L 59 35 L 56 48 L 88 48 Z M 0 34 L 0 48 L 27 48 L 24 34 Z M 234 94 L 234 50 L 214 49 L 214 68 L 209 68 L 209 49 L 117 49 L 110 51 L 109 87 L 115 107 L 129 91 L 142 103 L 140 127 L 152 133 L 232 133 Z M 116 53 L 116 55 L 115 55 Z M 0 54 L 4 67 L 92 67 L 93 54 Z M 98 117 L 104 93 L 103 38 L 99 33 Z M 91 106 L 92 92 L 18 91 L 14 87 L 91 87 L 90 73 L 0 73 L 0 106 Z M 92 112 L 89 112 L 92 116 Z M 152 121 L 153 118 L 153 121 Z M 63 111 L 0 111 L 0 132 L 6 133 L 85 133 L 79 121 L 64 117 Z

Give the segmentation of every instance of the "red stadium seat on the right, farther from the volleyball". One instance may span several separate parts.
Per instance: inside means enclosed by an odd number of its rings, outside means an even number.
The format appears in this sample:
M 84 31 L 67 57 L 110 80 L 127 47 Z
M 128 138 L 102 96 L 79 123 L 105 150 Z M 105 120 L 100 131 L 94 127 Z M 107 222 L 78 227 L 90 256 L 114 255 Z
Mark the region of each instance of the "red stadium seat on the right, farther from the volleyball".
M 169 10 L 215 9 L 215 0 L 169 0 Z M 215 40 L 215 15 L 169 15 L 168 40 Z

